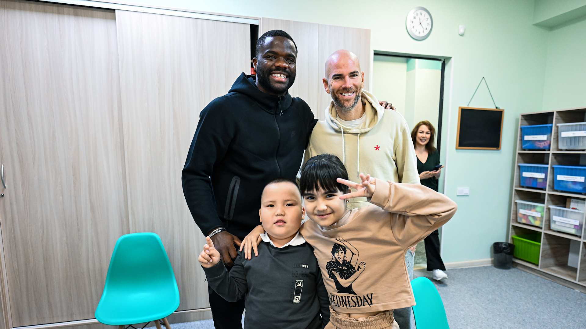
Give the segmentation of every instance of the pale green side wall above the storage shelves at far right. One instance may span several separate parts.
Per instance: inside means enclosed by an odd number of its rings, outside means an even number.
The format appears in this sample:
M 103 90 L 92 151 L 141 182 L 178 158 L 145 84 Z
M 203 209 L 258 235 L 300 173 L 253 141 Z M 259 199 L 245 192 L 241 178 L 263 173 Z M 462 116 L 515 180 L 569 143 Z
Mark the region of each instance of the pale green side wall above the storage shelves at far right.
M 586 107 L 585 36 L 586 19 L 549 32 L 543 110 Z

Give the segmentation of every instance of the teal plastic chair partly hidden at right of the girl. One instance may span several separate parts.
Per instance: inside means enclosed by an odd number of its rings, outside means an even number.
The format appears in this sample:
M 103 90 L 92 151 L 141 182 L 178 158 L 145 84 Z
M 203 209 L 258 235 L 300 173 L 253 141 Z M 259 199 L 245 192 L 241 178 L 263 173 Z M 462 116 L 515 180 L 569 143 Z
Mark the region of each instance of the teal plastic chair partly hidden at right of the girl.
M 411 287 L 415 296 L 413 317 L 417 329 L 449 329 L 444 303 L 430 279 L 417 277 L 411 281 Z

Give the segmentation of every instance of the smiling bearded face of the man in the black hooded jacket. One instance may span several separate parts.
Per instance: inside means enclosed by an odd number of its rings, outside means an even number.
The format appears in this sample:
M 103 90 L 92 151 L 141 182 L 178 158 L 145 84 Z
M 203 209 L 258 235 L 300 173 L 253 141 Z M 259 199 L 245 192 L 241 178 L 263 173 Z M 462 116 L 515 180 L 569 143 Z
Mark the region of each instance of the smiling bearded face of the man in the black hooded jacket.
M 286 37 L 267 37 L 258 49 L 253 64 L 258 89 L 270 95 L 284 95 L 295 82 L 295 44 Z

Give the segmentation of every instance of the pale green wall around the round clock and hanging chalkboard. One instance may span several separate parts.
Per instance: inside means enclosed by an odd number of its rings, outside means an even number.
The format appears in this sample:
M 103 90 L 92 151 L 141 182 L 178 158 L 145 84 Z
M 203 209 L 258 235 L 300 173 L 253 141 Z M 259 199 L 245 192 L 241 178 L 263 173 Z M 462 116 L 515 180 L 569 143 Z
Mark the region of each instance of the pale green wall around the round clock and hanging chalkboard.
M 459 210 L 443 230 L 444 261 L 489 258 L 492 243 L 506 240 L 517 118 L 522 112 L 539 109 L 543 100 L 548 31 L 532 25 L 534 0 L 428 0 L 421 4 L 410 0 L 298 0 L 274 5 L 229 0 L 133 2 L 366 28 L 372 30 L 372 50 L 449 57 L 442 162 L 447 163 L 445 193 L 458 203 Z M 434 18 L 431 35 L 424 41 L 411 39 L 405 28 L 407 13 L 416 5 L 425 6 Z M 458 35 L 458 25 L 466 25 L 464 36 Z M 455 150 L 458 107 L 468 103 L 483 76 L 497 105 L 505 109 L 503 148 Z M 471 105 L 493 107 L 484 87 Z M 456 197 L 458 186 L 469 186 L 471 195 Z

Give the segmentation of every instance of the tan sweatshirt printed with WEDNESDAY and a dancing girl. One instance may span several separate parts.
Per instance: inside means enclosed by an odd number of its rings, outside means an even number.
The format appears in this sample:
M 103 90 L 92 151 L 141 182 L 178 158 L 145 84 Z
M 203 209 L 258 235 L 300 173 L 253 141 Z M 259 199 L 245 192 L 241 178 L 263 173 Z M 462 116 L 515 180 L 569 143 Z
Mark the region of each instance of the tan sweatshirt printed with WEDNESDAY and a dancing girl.
M 350 210 L 333 228 L 311 220 L 301 226 L 314 247 L 331 306 L 341 313 L 415 305 L 405 252 L 444 225 L 457 208 L 423 185 L 379 179 L 370 202 Z

